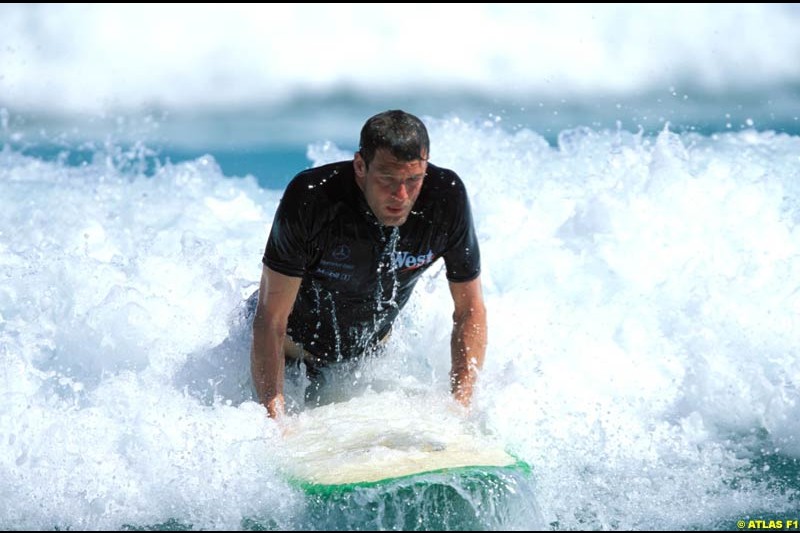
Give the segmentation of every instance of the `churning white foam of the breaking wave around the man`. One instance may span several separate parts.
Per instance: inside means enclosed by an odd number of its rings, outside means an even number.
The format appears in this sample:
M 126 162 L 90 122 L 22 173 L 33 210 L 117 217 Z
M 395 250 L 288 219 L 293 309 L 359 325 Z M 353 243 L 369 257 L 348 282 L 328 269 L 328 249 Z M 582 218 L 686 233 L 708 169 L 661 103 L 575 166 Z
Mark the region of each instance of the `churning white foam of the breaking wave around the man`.
M 688 528 L 791 509 L 750 461 L 800 457 L 800 139 L 578 129 L 550 147 L 428 123 L 482 245 L 490 344 L 471 416 L 533 465 L 545 520 Z M 0 153 L 0 524 L 300 527 L 240 317 L 280 191 L 210 156 L 152 177 L 110 161 Z M 449 301 L 434 266 L 388 355 L 341 378 L 350 393 L 444 401 Z

